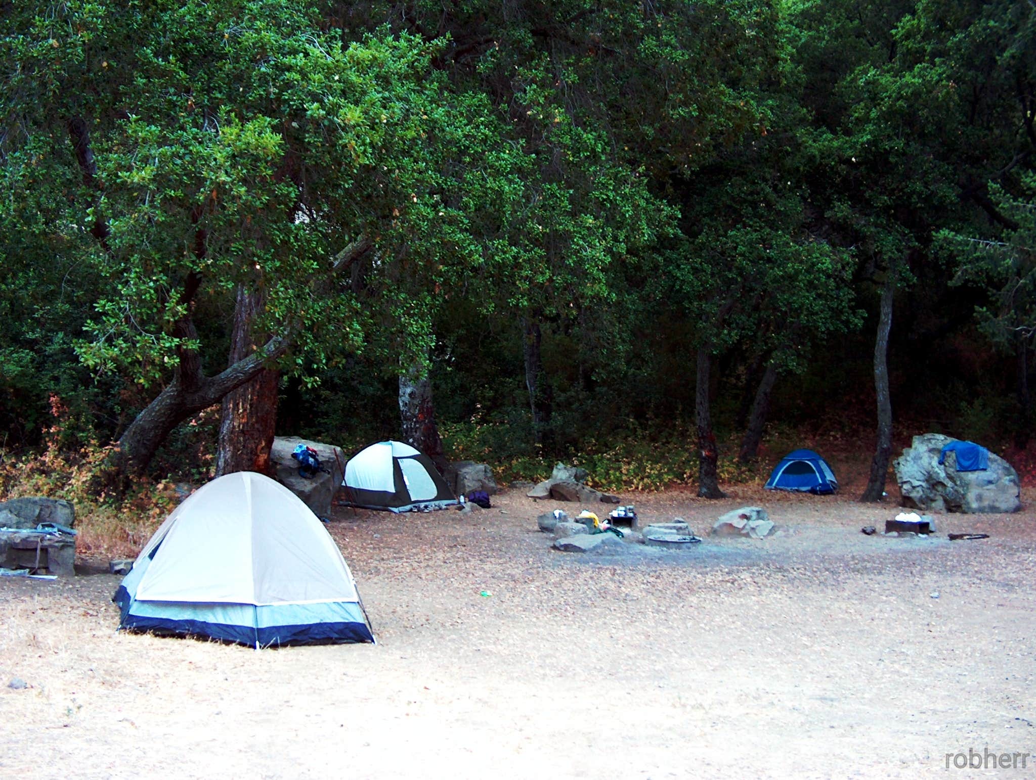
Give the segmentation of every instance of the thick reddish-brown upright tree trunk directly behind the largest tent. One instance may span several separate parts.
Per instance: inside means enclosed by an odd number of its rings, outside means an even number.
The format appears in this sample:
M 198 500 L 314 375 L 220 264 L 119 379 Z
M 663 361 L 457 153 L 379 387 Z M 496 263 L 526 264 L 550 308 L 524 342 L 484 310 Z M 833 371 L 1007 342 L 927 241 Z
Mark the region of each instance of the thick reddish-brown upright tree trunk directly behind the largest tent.
M 234 305 L 234 328 L 230 341 L 230 365 L 253 352 L 256 347 L 252 323 L 262 312 L 265 295 L 261 290 L 237 288 Z M 277 426 L 277 384 L 279 372 L 263 369 L 223 398 L 220 420 L 220 449 L 215 475 L 234 471 L 258 471 L 272 475 L 269 450 Z

